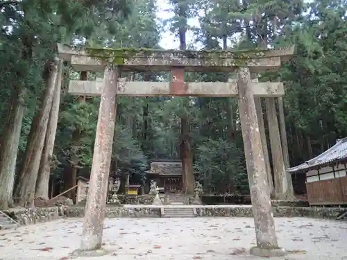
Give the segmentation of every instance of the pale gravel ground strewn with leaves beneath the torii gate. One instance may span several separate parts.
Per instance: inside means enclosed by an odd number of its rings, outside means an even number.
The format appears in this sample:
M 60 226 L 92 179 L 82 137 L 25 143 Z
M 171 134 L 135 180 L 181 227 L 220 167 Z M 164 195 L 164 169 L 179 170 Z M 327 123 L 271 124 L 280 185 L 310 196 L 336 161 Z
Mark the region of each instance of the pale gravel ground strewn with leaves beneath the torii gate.
M 347 260 L 347 222 L 276 218 L 278 243 L 289 252 L 273 259 Z M 81 241 L 82 219 L 0 231 L 0 260 L 64 260 Z M 253 218 L 112 218 L 105 220 L 100 260 L 246 260 L 255 245 Z

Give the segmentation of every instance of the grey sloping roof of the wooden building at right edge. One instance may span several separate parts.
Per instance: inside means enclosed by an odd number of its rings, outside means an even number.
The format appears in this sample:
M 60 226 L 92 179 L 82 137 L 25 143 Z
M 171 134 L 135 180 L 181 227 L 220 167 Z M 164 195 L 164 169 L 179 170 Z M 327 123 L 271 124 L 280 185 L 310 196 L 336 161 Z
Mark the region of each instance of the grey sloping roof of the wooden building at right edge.
M 321 153 L 317 157 L 310 159 L 303 164 L 295 167 L 287 168 L 289 173 L 296 173 L 298 171 L 307 171 L 310 168 L 328 164 L 329 162 L 341 161 L 347 158 L 347 137 L 343 139 L 337 139 L 335 146 L 332 146 L 324 153 Z

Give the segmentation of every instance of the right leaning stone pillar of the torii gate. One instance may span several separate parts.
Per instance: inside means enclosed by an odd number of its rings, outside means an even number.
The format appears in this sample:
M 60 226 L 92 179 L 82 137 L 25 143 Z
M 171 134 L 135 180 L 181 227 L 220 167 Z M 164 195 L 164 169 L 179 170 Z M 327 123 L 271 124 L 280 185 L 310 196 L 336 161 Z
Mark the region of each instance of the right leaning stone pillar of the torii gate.
M 239 68 L 238 87 L 239 115 L 257 239 L 257 246 L 251 249 L 251 254 L 262 257 L 281 256 L 285 254 L 285 251 L 278 248 L 269 185 L 266 182 L 262 141 L 248 68 Z

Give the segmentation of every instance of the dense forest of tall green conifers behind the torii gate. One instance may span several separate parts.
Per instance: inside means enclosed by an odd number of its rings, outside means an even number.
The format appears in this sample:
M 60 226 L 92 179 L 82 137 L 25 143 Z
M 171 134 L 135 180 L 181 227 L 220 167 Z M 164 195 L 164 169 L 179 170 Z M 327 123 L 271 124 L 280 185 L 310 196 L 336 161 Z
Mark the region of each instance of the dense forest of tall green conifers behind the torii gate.
M 90 172 L 100 98 L 67 94 L 69 80 L 83 75 L 64 63 L 57 107 L 49 75 L 58 42 L 164 49 L 162 36 L 170 32 L 180 49 L 295 44 L 294 57 L 279 71 L 260 75 L 262 80 L 280 79 L 285 84 L 278 109 L 284 107 L 290 166 L 346 137 L 346 1 L 169 0 L 166 19 L 158 16 L 160 3 L 0 1 L 0 209 L 30 202 L 33 196 L 49 198 L 51 179 L 68 189 L 77 175 Z M 185 76 L 186 81 L 205 82 L 230 77 L 223 73 Z M 129 77 L 160 81 L 168 75 L 132 73 Z M 151 159 L 181 159 L 184 153 L 185 164 L 198 172 L 205 193 L 247 194 L 238 117 L 236 98 L 118 97 L 112 165 L 122 175 L 144 182 Z M 264 123 L 267 127 L 266 116 Z M 294 191 L 305 193 L 296 176 L 292 179 Z M 31 198 L 28 193 L 33 193 Z

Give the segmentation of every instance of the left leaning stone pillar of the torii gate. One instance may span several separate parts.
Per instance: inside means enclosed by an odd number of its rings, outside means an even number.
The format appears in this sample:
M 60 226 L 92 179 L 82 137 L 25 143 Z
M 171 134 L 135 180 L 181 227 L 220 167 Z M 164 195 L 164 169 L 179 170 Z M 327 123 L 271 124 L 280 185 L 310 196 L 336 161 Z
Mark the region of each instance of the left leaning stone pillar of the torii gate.
M 78 255 L 104 254 L 101 250 L 103 220 L 108 188 L 108 175 L 115 132 L 116 94 L 119 71 L 106 69 L 105 85 L 101 94 L 99 117 L 96 127 L 92 171 L 90 173 L 87 205 L 83 220 L 81 248 Z

